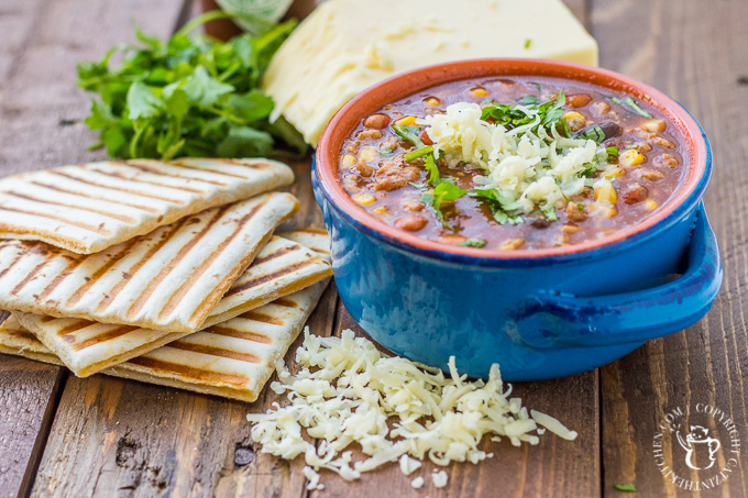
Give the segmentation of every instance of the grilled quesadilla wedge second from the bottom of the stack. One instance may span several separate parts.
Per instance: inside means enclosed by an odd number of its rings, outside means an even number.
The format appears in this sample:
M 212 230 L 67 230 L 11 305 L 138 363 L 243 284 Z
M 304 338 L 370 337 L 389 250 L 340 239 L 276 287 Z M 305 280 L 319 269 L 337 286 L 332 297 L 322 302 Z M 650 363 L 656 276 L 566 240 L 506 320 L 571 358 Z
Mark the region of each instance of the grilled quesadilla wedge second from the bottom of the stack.
M 255 262 L 227 292 L 209 317 L 233 318 L 252 308 L 306 288 L 332 274 L 330 264 L 310 250 L 287 239 L 274 236 Z M 226 303 L 226 306 L 224 306 Z M 184 336 L 133 325 L 97 323 L 76 318 L 54 318 L 15 312 L 15 316 L 78 377 L 87 377 Z

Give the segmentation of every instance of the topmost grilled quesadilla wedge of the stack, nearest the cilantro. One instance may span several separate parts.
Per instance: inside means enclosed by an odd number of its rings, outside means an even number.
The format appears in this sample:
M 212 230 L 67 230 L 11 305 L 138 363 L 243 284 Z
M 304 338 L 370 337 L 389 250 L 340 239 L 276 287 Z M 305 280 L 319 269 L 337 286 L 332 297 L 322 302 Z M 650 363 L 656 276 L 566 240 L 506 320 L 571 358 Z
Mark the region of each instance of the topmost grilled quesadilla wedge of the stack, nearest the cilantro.
M 108 161 L 0 179 L 0 237 L 91 254 L 294 181 L 268 159 Z

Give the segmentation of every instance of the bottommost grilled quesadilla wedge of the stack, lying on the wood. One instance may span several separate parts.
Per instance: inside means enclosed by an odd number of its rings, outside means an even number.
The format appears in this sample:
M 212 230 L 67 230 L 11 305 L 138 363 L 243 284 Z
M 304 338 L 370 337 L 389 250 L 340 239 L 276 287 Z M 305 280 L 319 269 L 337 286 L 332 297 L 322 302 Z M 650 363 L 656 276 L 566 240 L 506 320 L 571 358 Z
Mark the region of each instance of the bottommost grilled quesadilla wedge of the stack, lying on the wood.
M 298 232 L 286 233 L 294 236 Z M 320 247 L 327 235 L 316 233 Z M 103 374 L 254 401 L 314 311 L 329 278 L 227 322 L 187 335 Z M 11 316 L 0 325 L 0 352 L 62 364 Z

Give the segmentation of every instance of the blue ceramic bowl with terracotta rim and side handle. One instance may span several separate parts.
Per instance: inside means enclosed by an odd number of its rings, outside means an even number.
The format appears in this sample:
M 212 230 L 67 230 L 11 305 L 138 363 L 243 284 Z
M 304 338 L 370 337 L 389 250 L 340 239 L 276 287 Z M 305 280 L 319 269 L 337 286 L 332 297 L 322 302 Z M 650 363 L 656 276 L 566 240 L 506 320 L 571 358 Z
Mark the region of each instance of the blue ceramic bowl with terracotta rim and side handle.
M 606 239 L 530 251 L 486 251 L 426 241 L 370 215 L 338 181 L 343 140 L 367 114 L 447 81 L 548 76 L 592 82 L 642 99 L 679 129 L 690 169 L 673 197 L 640 224 Z M 711 308 L 722 283 L 717 243 L 702 196 L 708 142 L 680 104 L 604 69 L 527 59 L 482 59 L 418 69 L 359 95 L 319 142 L 312 182 L 332 237 L 343 303 L 371 336 L 417 362 L 507 380 L 598 367 L 645 341 L 682 330 Z

